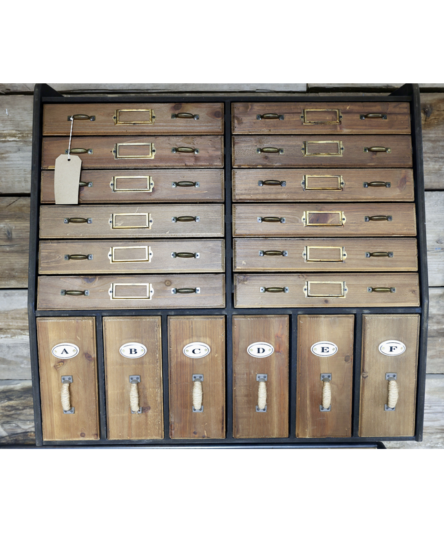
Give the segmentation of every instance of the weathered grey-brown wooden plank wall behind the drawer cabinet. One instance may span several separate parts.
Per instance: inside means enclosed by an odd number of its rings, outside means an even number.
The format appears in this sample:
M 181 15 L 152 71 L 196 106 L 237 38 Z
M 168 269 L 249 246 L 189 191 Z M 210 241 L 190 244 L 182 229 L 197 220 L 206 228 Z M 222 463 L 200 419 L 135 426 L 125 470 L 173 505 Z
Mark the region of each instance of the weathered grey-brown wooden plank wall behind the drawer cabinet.
M 388 94 L 401 84 L 369 84 Z M 444 84 L 421 85 L 430 323 L 422 443 L 390 448 L 444 448 Z M 63 94 L 310 92 L 362 94 L 350 84 L 53 84 Z M 0 446 L 33 443 L 27 317 L 33 84 L 0 84 Z M 363 89 L 362 86 L 359 87 Z

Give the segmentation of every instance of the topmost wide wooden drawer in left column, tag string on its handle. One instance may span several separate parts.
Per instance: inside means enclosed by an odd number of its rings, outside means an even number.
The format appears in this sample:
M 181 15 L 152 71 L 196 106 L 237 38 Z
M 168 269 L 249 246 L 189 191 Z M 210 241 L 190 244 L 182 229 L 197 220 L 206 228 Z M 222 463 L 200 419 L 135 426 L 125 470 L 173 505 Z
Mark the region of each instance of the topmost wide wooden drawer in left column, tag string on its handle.
M 69 135 L 72 115 L 74 135 L 224 132 L 222 103 L 67 103 L 43 106 L 43 135 Z

